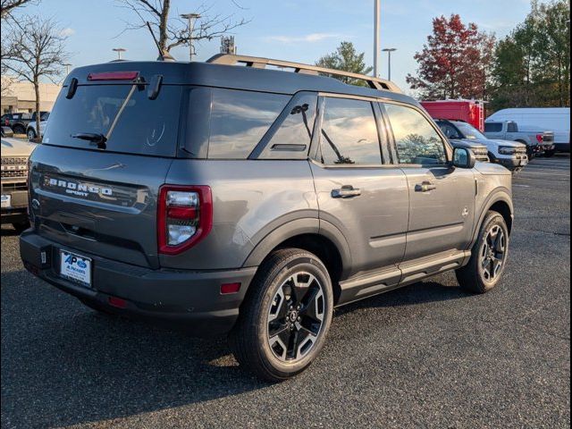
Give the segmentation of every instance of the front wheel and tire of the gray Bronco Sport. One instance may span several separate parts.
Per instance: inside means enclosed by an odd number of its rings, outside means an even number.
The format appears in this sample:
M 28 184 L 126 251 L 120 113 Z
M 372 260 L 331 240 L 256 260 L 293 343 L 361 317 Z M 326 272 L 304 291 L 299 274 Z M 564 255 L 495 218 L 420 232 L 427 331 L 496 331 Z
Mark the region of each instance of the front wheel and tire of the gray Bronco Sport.
M 502 215 L 489 211 L 467 265 L 459 268 L 458 284 L 474 293 L 492 290 L 500 281 L 509 256 L 509 228 Z

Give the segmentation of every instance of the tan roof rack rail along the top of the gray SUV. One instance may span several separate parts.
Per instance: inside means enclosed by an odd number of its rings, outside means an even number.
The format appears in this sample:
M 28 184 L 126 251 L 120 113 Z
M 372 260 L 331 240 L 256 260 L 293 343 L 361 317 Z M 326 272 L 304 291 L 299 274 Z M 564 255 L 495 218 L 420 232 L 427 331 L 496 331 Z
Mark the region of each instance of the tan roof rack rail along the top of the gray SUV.
M 237 63 L 244 63 L 248 67 L 256 69 L 264 69 L 266 65 L 274 65 L 276 67 L 283 67 L 294 69 L 297 73 L 314 74 L 320 73 L 332 74 L 334 76 L 345 76 L 347 78 L 365 80 L 367 84 L 374 89 L 383 89 L 391 92 L 401 92 L 400 87 L 395 85 L 391 80 L 384 80 L 374 78 L 373 76 L 366 76 L 365 74 L 352 73 L 350 71 L 341 71 L 335 69 L 326 69 L 317 65 L 308 65 L 303 63 L 291 63 L 290 61 L 273 60 L 270 58 L 261 58 L 257 56 L 248 55 L 231 55 L 231 54 L 217 54 L 206 60 L 206 63 L 236 65 Z

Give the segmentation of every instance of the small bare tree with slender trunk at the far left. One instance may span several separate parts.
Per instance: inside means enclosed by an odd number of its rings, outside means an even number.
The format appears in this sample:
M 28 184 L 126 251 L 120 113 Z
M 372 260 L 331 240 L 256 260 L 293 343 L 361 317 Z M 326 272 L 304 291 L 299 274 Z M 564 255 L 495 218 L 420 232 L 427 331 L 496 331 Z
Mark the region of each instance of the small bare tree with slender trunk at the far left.
M 5 70 L 11 71 L 16 79 L 27 80 L 34 86 L 38 138 L 42 136 L 39 123 L 40 80 L 49 79 L 55 82 L 62 74 L 63 64 L 68 59 L 64 49 L 65 39 L 62 29 L 55 21 L 38 16 L 26 16 L 13 21 L 7 31 L 7 47 L 3 52 L 2 65 Z

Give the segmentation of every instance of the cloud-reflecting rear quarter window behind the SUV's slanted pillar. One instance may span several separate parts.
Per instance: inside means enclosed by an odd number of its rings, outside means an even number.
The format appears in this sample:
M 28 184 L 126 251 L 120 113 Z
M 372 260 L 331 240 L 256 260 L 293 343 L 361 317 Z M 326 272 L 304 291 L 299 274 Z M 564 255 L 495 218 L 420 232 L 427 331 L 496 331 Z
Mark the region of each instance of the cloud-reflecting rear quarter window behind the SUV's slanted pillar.
M 279 94 L 214 88 L 208 157 L 248 158 L 289 101 Z

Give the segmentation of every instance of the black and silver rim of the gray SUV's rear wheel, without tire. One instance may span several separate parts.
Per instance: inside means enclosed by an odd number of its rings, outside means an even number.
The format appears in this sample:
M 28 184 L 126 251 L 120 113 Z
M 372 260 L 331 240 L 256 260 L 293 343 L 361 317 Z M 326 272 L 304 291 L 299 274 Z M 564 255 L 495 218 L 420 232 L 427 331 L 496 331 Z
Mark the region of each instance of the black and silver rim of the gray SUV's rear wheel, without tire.
M 267 340 L 274 357 L 297 361 L 315 347 L 325 315 L 324 289 L 313 274 L 292 274 L 274 294 Z

